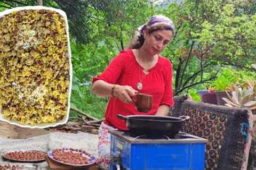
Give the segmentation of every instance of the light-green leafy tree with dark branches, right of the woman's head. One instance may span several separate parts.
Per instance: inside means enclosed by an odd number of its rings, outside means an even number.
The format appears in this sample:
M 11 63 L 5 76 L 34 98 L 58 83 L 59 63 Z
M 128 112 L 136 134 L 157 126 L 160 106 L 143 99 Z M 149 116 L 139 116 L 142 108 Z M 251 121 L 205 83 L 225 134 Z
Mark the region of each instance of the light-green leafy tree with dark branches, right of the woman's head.
M 194 0 L 163 10 L 177 27 L 172 45 L 163 53 L 174 63 L 175 95 L 211 82 L 222 66 L 251 69 L 256 43 L 253 9 L 251 1 Z

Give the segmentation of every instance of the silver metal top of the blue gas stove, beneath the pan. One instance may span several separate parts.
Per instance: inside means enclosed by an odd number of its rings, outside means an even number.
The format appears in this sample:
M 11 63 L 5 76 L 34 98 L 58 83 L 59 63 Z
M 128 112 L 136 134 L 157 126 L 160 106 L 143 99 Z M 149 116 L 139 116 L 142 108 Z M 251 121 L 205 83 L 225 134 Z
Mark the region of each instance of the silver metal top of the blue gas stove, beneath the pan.
M 177 135 L 170 136 L 169 134 L 143 134 L 134 133 L 131 131 L 109 131 L 115 137 L 129 143 L 206 143 L 207 140 L 199 138 L 185 132 L 179 132 Z

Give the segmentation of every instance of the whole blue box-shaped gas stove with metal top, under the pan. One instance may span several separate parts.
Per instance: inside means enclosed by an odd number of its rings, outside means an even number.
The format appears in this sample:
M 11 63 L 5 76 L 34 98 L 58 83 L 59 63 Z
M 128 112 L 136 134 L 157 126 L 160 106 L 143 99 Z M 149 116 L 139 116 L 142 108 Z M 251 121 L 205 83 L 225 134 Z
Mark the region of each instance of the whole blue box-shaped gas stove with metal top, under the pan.
M 206 139 L 179 132 L 169 135 L 109 131 L 110 170 L 201 170 L 204 169 Z

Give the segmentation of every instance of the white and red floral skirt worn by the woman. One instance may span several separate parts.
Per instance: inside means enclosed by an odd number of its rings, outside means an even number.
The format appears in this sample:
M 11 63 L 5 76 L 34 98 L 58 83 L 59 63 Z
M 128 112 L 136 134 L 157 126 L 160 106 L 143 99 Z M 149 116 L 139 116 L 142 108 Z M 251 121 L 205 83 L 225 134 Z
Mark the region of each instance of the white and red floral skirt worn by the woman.
M 102 122 L 99 129 L 98 159 L 96 160 L 96 164 L 101 169 L 109 169 L 111 143 L 109 130 L 116 129 Z

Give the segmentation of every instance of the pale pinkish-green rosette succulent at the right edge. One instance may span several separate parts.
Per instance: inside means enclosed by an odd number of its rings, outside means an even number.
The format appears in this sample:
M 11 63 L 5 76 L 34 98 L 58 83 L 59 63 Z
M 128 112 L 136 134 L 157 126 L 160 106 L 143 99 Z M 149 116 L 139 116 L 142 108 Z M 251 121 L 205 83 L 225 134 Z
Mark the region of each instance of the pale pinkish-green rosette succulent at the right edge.
M 253 89 L 243 89 L 242 87 L 233 87 L 234 91 L 231 92 L 232 97 L 227 92 L 228 98 L 222 98 L 226 101 L 226 106 L 229 107 L 245 107 L 247 109 L 256 109 L 256 101 L 252 100 L 255 95 Z

